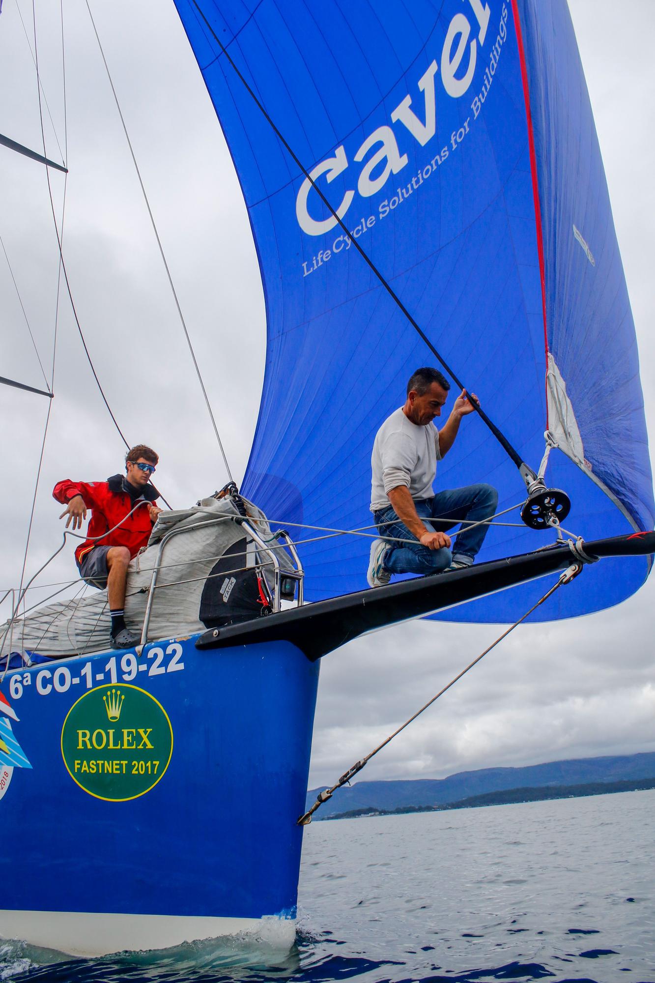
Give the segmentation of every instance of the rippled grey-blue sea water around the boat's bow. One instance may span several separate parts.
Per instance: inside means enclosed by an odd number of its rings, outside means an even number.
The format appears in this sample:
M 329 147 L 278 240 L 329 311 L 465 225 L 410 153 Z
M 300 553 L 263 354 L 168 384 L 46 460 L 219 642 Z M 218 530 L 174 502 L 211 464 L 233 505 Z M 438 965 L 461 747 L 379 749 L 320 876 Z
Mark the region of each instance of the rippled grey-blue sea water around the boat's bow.
M 0 979 L 655 983 L 655 790 L 313 823 L 291 953 L 217 940 L 55 961 L 0 943 Z

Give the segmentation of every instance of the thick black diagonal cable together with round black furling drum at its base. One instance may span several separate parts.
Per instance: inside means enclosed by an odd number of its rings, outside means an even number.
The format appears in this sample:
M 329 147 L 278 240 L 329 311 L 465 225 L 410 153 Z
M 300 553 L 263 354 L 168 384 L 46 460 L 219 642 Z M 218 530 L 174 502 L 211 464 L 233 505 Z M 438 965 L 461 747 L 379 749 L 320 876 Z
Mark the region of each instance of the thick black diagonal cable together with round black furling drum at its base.
M 450 368 L 450 366 L 447 364 L 446 360 L 443 358 L 442 355 L 440 355 L 440 353 L 437 351 L 437 349 L 435 348 L 435 346 L 433 345 L 433 343 L 430 341 L 430 339 L 428 338 L 427 334 L 419 326 L 419 324 L 416 321 L 416 319 L 413 318 L 412 315 L 409 313 L 409 311 L 407 310 L 407 308 L 405 307 L 405 305 L 402 303 L 402 301 L 400 300 L 400 298 L 398 297 L 398 295 L 395 293 L 395 291 L 393 290 L 393 288 L 391 287 L 391 285 L 387 281 L 387 278 L 380 271 L 380 269 L 378 269 L 378 267 L 376 266 L 376 264 L 374 263 L 374 261 L 369 257 L 369 255 L 367 254 L 366 250 L 362 249 L 362 247 L 360 246 L 359 242 L 357 241 L 357 239 L 354 236 L 351 236 L 350 231 L 347 228 L 347 226 L 346 226 L 345 222 L 343 221 L 343 219 L 342 218 L 339 218 L 338 214 L 336 213 L 336 211 L 334 210 L 334 208 L 332 207 L 332 205 L 330 204 L 330 202 L 327 201 L 327 198 L 324 195 L 324 193 L 321 191 L 321 188 L 319 188 L 318 184 L 312 178 L 311 174 L 306 169 L 306 167 L 303 165 L 303 163 L 300 160 L 300 158 L 298 157 L 298 155 L 294 152 L 294 150 L 291 147 L 291 145 L 288 144 L 288 142 L 283 137 L 283 135 L 281 134 L 281 132 L 279 131 L 279 129 L 277 128 L 277 126 L 275 125 L 275 123 L 273 122 L 273 120 L 271 119 L 271 117 L 268 115 L 268 112 L 265 109 L 264 105 L 262 104 L 262 102 L 260 101 L 260 99 L 257 97 L 257 95 L 255 94 L 255 92 L 252 89 L 252 87 L 250 87 L 248 85 L 248 82 L 246 81 L 246 79 L 243 77 L 242 73 L 237 68 L 237 66 L 234 63 L 233 59 L 230 57 L 230 54 L 227 51 L 227 48 L 225 47 L 225 45 L 222 43 L 222 41 L 220 40 L 220 38 L 218 37 L 218 35 L 214 31 L 214 29 L 209 24 L 208 19 L 205 16 L 204 11 L 201 9 L 201 7 L 198 4 L 198 0 L 192 0 L 192 2 L 193 2 L 194 7 L 196 8 L 196 10 L 198 11 L 198 13 L 202 17 L 203 21 L 205 22 L 205 24 L 207 26 L 207 29 L 210 32 L 211 36 L 215 40 L 216 44 L 218 44 L 218 46 L 220 47 L 220 50 L 221 50 L 222 54 L 225 55 L 225 58 L 227 59 L 227 61 L 229 62 L 230 66 L 234 70 L 234 72 L 237 75 L 239 81 L 246 88 L 246 90 L 248 91 L 249 95 L 254 100 L 255 104 L 257 105 L 258 109 L 260 109 L 260 111 L 264 115 L 265 119 L 268 122 L 268 125 L 272 129 L 272 131 L 275 134 L 275 136 L 277 137 L 277 139 L 280 141 L 280 143 L 285 147 L 285 149 L 287 150 L 287 152 L 293 158 L 294 163 L 300 168 L 300 170 L 302 171 L 302 173 L 305 176 L 306 180 L 310 182 L 311 186 L 314 188 L 314 190 L 316 191 L 316 193 L 319 195 L 321 201 L 324 202 L 324 204 L 326 205 L 326 207 L 327 207 L 329 213 L 331 214 L 331 216 L 335 219 L 335 221 L 338 223 L 338 225 L 340 226 L 340 228 L 347 235 L 347 237 L 350 240 L 351 244 L 355 247 L 355 249 L 357 250 L 357 252 L 359 253 L 359 255 L 367 263 L 367 265 L 369 266 L 369 268 L 371 269 L 371 271 L 378 278 L 378 280 L 380 281 L 380 283 L 382 284 L 382 286 L 387 291 L 387 294 L 389 295 L 389 297 L 391 298 L 391 300 L 393 301 L 393 303 L 402 312 L 402 314 L 404 315 L 404 317 L 407 318 L 407 320 L 409 321 L 409 323 L 411 324 L 411 326 L 417 332 L 417 334 L 419 335 L 419 337 L 428 346 L 428 348 L 430 349 L 430 351 L 432 352 L 432 354 L 435 356 L 435 358 L 437 359 L 437 361 L 439 362 L 439 364 L 442 366 L 443 369 L 446 370 L 448 376 L 450 376 L 450 378 L 453 380 L 453 382 L 455 383 L 455 385 L 457 385 L 460 389 L 462 389 L 464 392 L 466 392 L 466 395 L 468 396 L 469 393 L 468 393 L 468 390 L 467 390 L 466 386 L 464 385 L 464 383 L 461 381 L 461 379 L 459 379 L 455 375 L 455 373 L 452 371 L 452 369 Z M 516 465 L 516 467 L 518 468 L 518 472 L 519 472 L 521 478 L 525 482 L 526 488 L 528 490 L 528 499 L 524 503 L 523 508 L 521 509 L 521 518 L 523 519 L 523 522 L 525 522 L 525 524 L 528 525 L 528 526 L 530 526 L 530 528 L 532 528 L 532 529 L 548 529 L 549 527 L 556 527 L 557 528 L 557 526 L 559 526 L 559 524 L 560 524 L 560 521 L 563 520 L 563 519 L 566 519 L 566 516 L 568 515 L 568 512 L 570 511 L 570 499 L 569 499 L 568 495 L 566 494 L 566 492 L 562 492 L 560 489 L 547 489 L 546 488 L 546 484 L 545 484 L 543 478 L 541 476 L 537 475 L 537 473 L 529 466 L 529 464 L 526 464 L 525 463 L 525 461 L 521 458 L 521 455 L 518 453 L 518 451 L 516 450 L 516 448 L 512 446 L 512 444 L 507 439 L 506 435 L 490 419 L 490 417 L 485 413 L 485 411 L 482 409 L 482 407 L 480 406 L 480 404 L 476 400 L 474 400 L 474 399 L 470 399 L 470 402 L 471 402 L 472 406 L 474 407 L 476 413 L 480 416 L 480 418 L 482 419 L 482 421 L 486 424 L 486 426 L 488 427 L 488 429 L 491 431 L 492 434 L 494 434 L 494 436 L 499 441 L 499 443 L 501 444 L 501 446 L 503 447 L 503 449 L 506 451 L 507 456 Z M 530 521 L 530 520 L 532 520 L 532 521 Z

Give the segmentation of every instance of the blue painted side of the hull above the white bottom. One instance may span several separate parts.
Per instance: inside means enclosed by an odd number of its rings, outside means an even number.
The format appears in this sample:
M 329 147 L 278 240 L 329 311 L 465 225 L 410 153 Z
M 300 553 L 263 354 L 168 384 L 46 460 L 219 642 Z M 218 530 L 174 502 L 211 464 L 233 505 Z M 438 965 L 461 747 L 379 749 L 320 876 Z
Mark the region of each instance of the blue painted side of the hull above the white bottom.
M 8 673 L 0 909 L 295 917 L 319 664 L 197 637 Z

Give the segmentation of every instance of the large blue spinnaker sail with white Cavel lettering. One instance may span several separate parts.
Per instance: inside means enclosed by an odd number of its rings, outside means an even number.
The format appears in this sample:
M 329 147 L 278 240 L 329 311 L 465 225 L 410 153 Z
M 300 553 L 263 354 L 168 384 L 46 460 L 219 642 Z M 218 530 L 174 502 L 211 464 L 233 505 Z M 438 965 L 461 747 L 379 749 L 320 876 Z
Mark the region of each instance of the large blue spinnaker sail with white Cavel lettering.
M 353 241 L 535 470 L 544 432 L 554 434 L 546 478 L 572 500 L 568 529 L 593 539 L 652 528 L 634 327 L 564 0 L 176 5 L 239 175 L 266 294 L 244 492 L 315 540 L 301 547 L 308 600 L 366 586 L 370 540 L 317 540 L 310 527 L 370 525 L 374 436 L 413 370 L 435 361 Z M 500 510 L 525 497 L 474 417 L 435 487 L 478 481 L 499 489 Z M 553 538 L 517 511 L 501 521 L 513 525 L 494 526 L 479 559 Z M 608 560 L 536 617 L 616 604 L 648 569 Z M 510 620 L 542 591 L 524 585 L 441 616 Z

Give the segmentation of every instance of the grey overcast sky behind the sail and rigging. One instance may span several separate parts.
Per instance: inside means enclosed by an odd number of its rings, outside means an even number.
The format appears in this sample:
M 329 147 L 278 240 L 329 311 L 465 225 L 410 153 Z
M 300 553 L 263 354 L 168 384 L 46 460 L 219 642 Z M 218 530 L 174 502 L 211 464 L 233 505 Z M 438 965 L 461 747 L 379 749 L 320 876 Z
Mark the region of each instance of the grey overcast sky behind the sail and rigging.
M 650 433 L 655 433 L 652 0 L 570 0 L 632 303 Z M 49 155 L 63 147 L 58 4 L 36 0 Z M 243 475 L 259 407 L 265 312 L 236 176 L 172 3 L 91 4 L 180 303 L 234 476 Z M 38 148 L 31 4 L 0 16 L 0 132 Z M 78 313 L 107 398 L 128 440 L 160 453 L 157 486 L 177 506 L 226 476 L 149 229 L 84 0 L 65 3 L 68 151 L 64 251 Z M 33 43 L 32 43 L 33 48 Z M 45 172 L 0 147 L 0 236 L 46 376 L 58 262 Z M 52 176 L 61 212 L 63 178 Z M 0 250 L 0 375 L 43 376 Z M 63 477 L 119 470 L 122 443 L 89 373 L 65 298 L 54 400 L 28 572 L 61 542 L 51 498 Z M 0 586 L 20 580 L 45 399 L 0 387 L 5 517 Z M 599 412 L 603 412 L 602 407 Z M 72 549 L 43 583 L 75 575 Z M 37 596 L 37 595 L 35 595 Z M 620 607 L 516 630 L 413 724 L 362 778 L 443 777 L 496 765 L 655 749 L 653 578 Z M 0 614 L 7 616 L 5 604 Z M 440 689 L 498 634 L 495 626 L 416 623 L 350 644 L 322 667 L 311 781 L 332 781 Z

